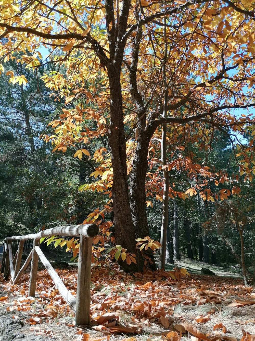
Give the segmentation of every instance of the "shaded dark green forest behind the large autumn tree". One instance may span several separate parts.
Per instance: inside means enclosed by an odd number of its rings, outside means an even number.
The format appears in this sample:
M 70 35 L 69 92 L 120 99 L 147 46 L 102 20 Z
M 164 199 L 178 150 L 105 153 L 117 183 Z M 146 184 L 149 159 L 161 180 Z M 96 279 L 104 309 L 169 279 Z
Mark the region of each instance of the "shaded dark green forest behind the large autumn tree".
M 40 78 L 54 70 L 48 65 L 42 66 L 37 69 L 35 77 L 34 72 L 16 61 L 9 61 L 7 68 L 24 75 L 27 82 L 21 85 L 10 83 L 4 73 L 0 77 L 1 235 L 27 234 L 58 225 L 96 222 L 107 228 L 100 239 L 94 240 L 93 252 L 98 260 L 99 255 L 115 245 L 111 198 L 95 182 L 95 178 L 100 176 L 98 155 L 101 157 L 103 152 L 107 155 L 107 138 L 91 140 L 86 147 L 91 156 L 84 155 L 81 159 L 73 157 L 75 148 L 64 153 L 52 152 L 54 147 L 41 141 L 39 136 L 65 106 L 65 99 L 56 101 L 50 98 L 51 91 Z M 91 128 L 97 128 L 93 119 L 88 122 Z M 168 125 L 167 129 L 167 136 L 171 136 L 173 127 Z M 248 135 L 237 135 L 236 138 L 241 139 L 240 145 L 249 144 Z M 156 241 L 160 241 L 164 182 L 163 172 L 155 162 L 160 159 L 159 147 L 160 144 L 152 142 L 146 202 L 150 237 Z M 199 142 L 183 146 L 178 140 L 171 141 L 166 151 L 168 159 L 180 161 L 183 158 L 187 162 L 192 154 L 201 164 L 206 163 L 208 169 L 232 174 L 236 173 L 235 153 L 238 153 L 238 147 L 235 146 L 235 152 L 232 147 L 225 134 L 217 133 L 210 152 Z M 170 198 L 168 207 L 166 262 L 173 264 L 174 260 L 187 257 L 207 264 L 234 267 L 238 264 L 241 267 L 240 233 L 235 218 L 227 219 L 231 216 L 231 209 L 235 208 L 242 219 L 248 219 L 242 236 L 248 276 L 253 277 L 255 229 L 251 185 L 245 186 L 244 183 L 245 192 L 238 197 L 233 195 L 236 193 L 229 182 L 229 186 L 224 186 L 226 190 L 222 191 L 226 195 L 223 199 L 227 198 L 224 204 L 203 200 L 199 192 L 191 190 L 195 188 L 195 182 L 187 178 L 185 168 L 184 164 L 176 164 L 169 172 L 172 187 L 177 193 Z M 92 189 L 81 191 L 84 185 Z M 213 192 L 220 185 L 215 180 L 210 182 L 208 189 Z M 187 194 L 184 194 L 187 189 Z M 111 258 L 115 261 L 114 253 Z

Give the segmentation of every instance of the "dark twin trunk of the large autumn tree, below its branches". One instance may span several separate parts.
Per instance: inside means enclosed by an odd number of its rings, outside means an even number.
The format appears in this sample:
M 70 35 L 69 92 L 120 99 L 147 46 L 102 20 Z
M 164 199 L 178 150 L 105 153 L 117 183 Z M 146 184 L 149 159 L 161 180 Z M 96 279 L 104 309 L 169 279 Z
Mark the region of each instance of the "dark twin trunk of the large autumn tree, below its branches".
M 129 198 L 120 70 L 121 68 L 118 70 L 117 67 L 111 67 L 111 70 L 108 70 L 111 92 L 111 123 L 108 138 L 114 173 L 112 198 L 115 239 L 116 243 L 127 249 L 128 252 L 136 254 L 137 264 L 131 263 L 128 265 L 119 258 L 119 263 L 123 269 L 130 272 L 141 271 L 144 265 L 141 253 L 137 251 L 135 239 L 149 235 L 145 205 L 145 176 L 148 167 L 147 155 L 150 138 L 144 139 L 145 136 L 142 132 L 138 134 L 136 152 L 133 157 L 133 168 L 130 174 Z M 139 129 L 139 127 L 137 128 Z M 152 250 L 148 250 L 147 254 L 151 258 L 151 267 L 155 269 Z

